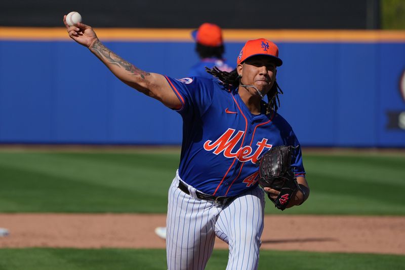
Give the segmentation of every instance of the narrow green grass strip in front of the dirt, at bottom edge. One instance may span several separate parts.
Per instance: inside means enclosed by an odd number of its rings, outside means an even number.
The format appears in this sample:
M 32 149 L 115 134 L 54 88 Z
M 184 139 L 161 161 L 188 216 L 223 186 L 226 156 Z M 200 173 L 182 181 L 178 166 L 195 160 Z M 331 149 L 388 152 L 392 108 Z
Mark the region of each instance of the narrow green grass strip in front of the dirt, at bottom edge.
M 214 250 L 207 270 L 223 270 L 228 252 Z M 2 270 L 166 269 L 165 250 L 147 249 L 0 249 Z M 22 260 L 21 258 L 24 258 Z M 302 251 L 260 252 L 259 269 L 377 270 L 404 269 L 405 256 Z

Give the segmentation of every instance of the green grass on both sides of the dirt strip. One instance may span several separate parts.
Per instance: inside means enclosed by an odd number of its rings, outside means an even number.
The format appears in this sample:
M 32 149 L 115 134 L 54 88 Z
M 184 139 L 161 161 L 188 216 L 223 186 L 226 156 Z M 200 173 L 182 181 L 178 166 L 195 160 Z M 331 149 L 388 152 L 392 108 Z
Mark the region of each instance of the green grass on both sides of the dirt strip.
M 2 150 L 0 212 L 166 213 L 178 162 L 177 150 Z M 311 195 L 303 206 L 283 214 L 404 215 L 404 164 L 403 153 L 304 151 Z M 267 206 L 266 213 L 279 214 Z M 227 251 L 215 250 L 207 269 L 224 269 L 226 262 Z M 262 250 L 259 269 L 385 270 L 404 265 L 405 256 L 398 255 Z M 0 270 L 18 269 L 166 269 L 166 255 L 164 250 L 0 249 Z

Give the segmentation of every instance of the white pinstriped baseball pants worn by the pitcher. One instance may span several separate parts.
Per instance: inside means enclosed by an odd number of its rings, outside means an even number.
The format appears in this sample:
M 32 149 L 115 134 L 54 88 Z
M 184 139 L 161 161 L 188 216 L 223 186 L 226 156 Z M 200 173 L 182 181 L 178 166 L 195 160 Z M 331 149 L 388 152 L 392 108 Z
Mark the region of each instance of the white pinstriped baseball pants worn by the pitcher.
M 196 199 L 178 188 L 178 172 L 169 189 L 166 220 L 168 269 L 204 269 L 215 236 L 229 245 L 226 269 L 257 269 L 263 232 L 264 192 L 257 187 L 225 205 Z

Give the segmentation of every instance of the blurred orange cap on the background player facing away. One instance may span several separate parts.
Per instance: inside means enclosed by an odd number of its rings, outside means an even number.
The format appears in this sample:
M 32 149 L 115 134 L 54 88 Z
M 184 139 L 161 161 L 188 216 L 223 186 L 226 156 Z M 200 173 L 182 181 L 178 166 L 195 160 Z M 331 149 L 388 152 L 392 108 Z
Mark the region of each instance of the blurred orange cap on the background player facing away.
M 203 23 L 191 32 L 194 40 L 204 46 L 219 47 L 223 45 L 222 29 L 213 23 Z

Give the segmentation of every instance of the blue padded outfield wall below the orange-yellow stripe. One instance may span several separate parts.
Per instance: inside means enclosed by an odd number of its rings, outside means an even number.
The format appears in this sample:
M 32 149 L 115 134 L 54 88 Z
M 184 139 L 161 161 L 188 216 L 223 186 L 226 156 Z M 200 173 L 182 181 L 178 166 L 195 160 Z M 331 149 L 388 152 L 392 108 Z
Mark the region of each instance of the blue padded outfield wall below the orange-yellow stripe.
M 405 111 L 405 43 L 277 44 L 279 113 L 302 145 L 405 147 L 405 130 L 388 127 L 387 116 Z M 198 60 L 191 42 L 105 45 L 174 78 Z M 226 44 L 225 57 L 235 62 L 242 46 Z M 86 48 L 0 41 L 0 143 L 180 144 L 181 137 L 175 111 L 121 83 Z

